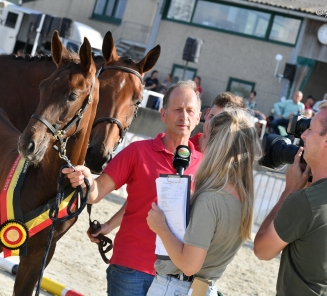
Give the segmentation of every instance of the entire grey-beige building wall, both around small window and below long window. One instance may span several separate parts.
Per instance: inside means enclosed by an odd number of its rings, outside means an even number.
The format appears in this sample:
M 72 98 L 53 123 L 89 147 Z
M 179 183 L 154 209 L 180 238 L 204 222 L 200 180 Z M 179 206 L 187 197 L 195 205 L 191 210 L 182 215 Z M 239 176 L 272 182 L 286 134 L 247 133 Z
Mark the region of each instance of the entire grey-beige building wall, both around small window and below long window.
M 42 0 L 24 6 L 75 19 L 100 31 L 103 36 L 108 30 L 113 32 L 117 25 L 90 19 L 94 3 L 89 0 Z M 151 26 L 158 4 L 159 0 L 128 1 L 122 22 Z M 275 56 L 280 53 L 284 57 L 279 69 L 279 73 L 283 73 L 292 47 L 162 20 L 156 38 L 156 44 L 160 44 L 162 49 L 155 66 L 159 71 L 159 81 L 171 73 L 173 64 L 185 64 L 182 53 L 187 37 L 204 40 L 199 63 L 188 63 L 188 67 L 198 69 L 197 75 L 202 78 L 202 105 L 210 105 L 219 92 L 226 91 L 229 78 L 233 77 L 254 82 L 258 109 L 270 114 L 273 103 L 280 99 L 282 87 L 273 76 Z

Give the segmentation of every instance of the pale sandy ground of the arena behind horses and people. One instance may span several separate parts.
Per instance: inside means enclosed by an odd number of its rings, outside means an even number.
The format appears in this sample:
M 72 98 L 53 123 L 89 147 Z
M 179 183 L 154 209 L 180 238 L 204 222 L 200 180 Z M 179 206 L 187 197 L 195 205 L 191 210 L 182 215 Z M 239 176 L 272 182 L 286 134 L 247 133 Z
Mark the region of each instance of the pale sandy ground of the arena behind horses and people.
M 124 203 L 121 192 L 108 195 L 100 204 L 93 206 L 92 219 L 100 222 L 110 218 Z M 77 223 L 58 242 L 55 255 L 44 276 L 83 295 L 106 295 L 106 264 L 97 246 L 86 235 L 88 215 L 86 210 Z M 115 233 L 110 234 L 114 238 Z M 259 261 L 253 254 L 253 242 L 247 241 L 228 266 L 217 287 L 224 296 L 275 295 L 279 258 L 269 262 Z M 17 260 L 12 257 L 11 260 Z M 15 277 L 0 269 L 0 295 L 12 295 Z M 41 291 L 40 295 L 52 295 Z M 119 295 L 117 295 L 119 296 Z

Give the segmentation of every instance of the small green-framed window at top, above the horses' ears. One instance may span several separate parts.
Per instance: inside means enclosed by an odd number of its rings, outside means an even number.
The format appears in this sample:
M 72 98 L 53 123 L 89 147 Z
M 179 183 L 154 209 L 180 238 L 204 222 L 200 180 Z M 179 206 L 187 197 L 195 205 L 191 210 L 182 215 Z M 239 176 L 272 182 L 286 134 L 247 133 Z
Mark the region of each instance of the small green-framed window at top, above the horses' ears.
M 97 0 L 92 18 L 120 24 L 126 4 L 127 0 Z

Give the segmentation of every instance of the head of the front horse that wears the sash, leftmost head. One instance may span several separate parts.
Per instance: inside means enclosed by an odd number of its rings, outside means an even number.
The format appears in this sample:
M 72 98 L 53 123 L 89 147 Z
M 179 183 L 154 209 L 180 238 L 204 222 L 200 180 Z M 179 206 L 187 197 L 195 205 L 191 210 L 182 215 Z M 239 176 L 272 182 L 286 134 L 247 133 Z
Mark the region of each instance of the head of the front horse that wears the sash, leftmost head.
M 84 38 L 79 54 L 69 53 L 56 31 L 51 51 L 57 69 L 40 83 L 40 102 L 19 138 L 18 150 L 22 157 L 37 164 L 49 149 L 54 151 L 49 147 L 55 142 L 60 156 L 66 153 L 67 140 L 74 136 L 74 155 L 78 156 L 73 161 L 83 163 L 91 132 L 89 123 L 94 120 L 98 103 L 99 82 L 91 45 Z

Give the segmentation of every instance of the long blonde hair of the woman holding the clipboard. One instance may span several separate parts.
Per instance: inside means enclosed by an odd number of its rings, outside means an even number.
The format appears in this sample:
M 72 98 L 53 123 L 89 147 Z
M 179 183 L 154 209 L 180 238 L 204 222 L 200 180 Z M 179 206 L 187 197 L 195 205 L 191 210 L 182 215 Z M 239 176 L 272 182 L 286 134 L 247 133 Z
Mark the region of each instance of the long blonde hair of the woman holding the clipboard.
M 219 191 L 230 183 L 242 204 L 242 240 L 251 236 L 254 189 L 253 164 L 261 157 L 257 130 L 243 109 L 225 109 L 209 122 L 210 137 L 195 178 L 196 198 L 205 191 Z

